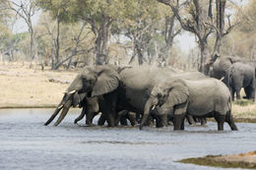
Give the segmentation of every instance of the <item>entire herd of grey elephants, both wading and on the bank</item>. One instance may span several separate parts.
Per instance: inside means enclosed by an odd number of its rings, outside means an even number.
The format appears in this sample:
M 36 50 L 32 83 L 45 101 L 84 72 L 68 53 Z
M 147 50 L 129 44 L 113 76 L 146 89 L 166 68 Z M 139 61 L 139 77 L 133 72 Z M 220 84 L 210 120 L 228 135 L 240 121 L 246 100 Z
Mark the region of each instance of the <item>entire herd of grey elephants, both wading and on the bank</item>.
M 209 64 L 206 73 L 177 73 L 170 68 L 151 66 L 117 67 L 113 65 L 85 67 L 71 83 L 64 96 L 44 124 L 50 124 L 61 111 L 54 124 L 59 125 L 71 107 L 82 108 L 74 123 L 86 116 L 86 124 L 101 113 L 97 125 L 156 127 L 173 125 L 184 130 L 184 120 L 190 124 L 214 117 L 218 130 L 226 122 L 232 131 L 237 130 L 231 114 L 231 101 L 244 98 L 254 101 L 255 69 L 253 62 L 237 56 L 219 57 Z M 129 122 L 128 122 L 129 121 Z

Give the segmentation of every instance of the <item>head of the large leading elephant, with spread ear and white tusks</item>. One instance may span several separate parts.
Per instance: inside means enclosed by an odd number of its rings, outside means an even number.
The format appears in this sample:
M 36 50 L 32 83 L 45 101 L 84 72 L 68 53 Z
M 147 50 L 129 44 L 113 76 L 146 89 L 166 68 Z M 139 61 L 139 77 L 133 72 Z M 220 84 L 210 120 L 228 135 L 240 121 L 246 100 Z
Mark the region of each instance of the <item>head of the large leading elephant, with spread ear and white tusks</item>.
M 54 126 L 59 125 L 71 106 L 77 106 L 86 96 L 97 96 L 111 92 L 118 85 L 119 76 L 111 67 L 91 66 L 84 68 L 67 88 L 60 104 L 44 125 L 47 126 L 51 123 L 62 109 L 61 115 Z

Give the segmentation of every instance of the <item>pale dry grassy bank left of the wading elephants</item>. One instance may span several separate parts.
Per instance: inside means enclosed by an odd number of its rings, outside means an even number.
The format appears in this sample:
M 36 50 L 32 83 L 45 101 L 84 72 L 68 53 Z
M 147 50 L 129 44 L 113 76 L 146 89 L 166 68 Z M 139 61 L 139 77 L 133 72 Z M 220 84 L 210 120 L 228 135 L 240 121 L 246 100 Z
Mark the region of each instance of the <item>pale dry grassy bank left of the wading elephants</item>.
M 0 108 L 52 107 L 58 104 L 76 72 L 54 72 L 29 65 L 0 65 Z M 60 83 L 51 83 L 50 79 Z M 61 83 L 63 82 L 63 84 Z

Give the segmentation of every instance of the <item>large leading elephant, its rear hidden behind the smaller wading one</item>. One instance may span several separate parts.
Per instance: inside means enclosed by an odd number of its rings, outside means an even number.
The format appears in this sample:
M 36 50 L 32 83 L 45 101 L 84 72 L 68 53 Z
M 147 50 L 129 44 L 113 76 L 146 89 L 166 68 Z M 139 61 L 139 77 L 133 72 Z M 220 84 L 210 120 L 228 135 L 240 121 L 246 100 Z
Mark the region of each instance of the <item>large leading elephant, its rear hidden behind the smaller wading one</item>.
M 99 96 L 101 99 L 98 101 L 98 106 L 102 114 L 98 125 L 103 125 L 106 120 L 107 125 L 113 127 L 117 113 L 122 110 L 143 113 L 144 105 L 154 85 L 161 80 L 175 80 L 180 77 L 184 79 L 205 78 L 198 72 L 177 74 L 170 69 L 145 66 L 118 69 L 108 65 L 86 67 L 68 87 L 62 101 L 45 125 L 48 125 L 62 108 L 55 126 L 64 119 L 69 108 L 75 107 L 85 96 Z M 72 104 L 73 100 L 79 102 Z M 160 116 L 167 119 L 165 114 L 160 114 Z

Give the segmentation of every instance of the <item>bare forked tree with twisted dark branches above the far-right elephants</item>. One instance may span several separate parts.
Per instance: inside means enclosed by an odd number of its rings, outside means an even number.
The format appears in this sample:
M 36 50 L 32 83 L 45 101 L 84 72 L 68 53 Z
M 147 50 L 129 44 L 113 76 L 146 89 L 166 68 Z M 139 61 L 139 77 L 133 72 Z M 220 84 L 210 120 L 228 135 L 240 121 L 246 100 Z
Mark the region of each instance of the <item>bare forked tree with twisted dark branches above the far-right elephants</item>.
M 224 32 L 224 9 L 226 5 L 226 0 L 216 0 L 216 17 L 213 15 L 213 0 L 210 1 L 185 1 L 182 4 L 179 0 L 158 0 L 169 6 L 174 13 L 176 19 L 180 23 L 181 27 L 187 31 L 194 33 L 198 39 L 198 44 L 201 50 L 201 61 L 200 61 L 200 71 L 206 72 L 208 70 L 208 65 L 210 60 L 214 61 L 215 58 L 213 53 L 211 54 L 208 38 L 210 34 L 216 30 L 216 45 L 214 52 L 220 52 L 222 37 L 230 32 L 234 27 L 229 22 L 229 28 L 226 28 Z M 179 8 L 176 8 L 179 7 Z M 185 8 L 184 8 L 185 7 Z M 181 9 L 183 10 L 183 16 L 181 17 Z M 187 12 L 187 13 L 186 13 Z M 186 15 L 184 15 L 184 13 Z M 216 22 L 214 22 L 216 20 Z M 229 20 L 228 20 L 229 21 Z

